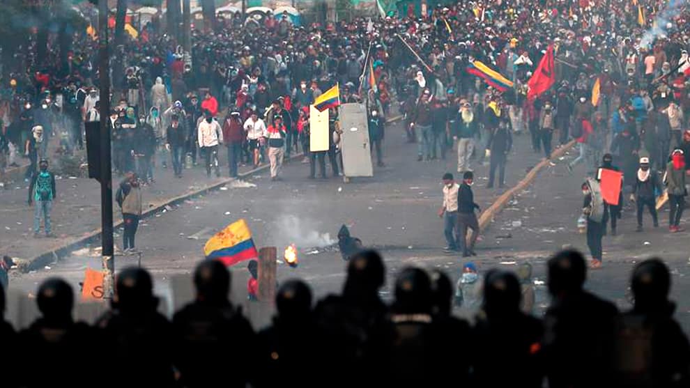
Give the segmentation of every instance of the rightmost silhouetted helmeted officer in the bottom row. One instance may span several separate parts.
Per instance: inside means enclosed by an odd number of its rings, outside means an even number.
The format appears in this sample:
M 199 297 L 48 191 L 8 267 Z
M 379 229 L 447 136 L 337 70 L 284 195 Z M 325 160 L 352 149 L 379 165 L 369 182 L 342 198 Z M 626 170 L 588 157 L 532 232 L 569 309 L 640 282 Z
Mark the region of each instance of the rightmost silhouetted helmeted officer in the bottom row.
M 689 387 L 690 344 L 673 319 L 670 273 L 658 258 L 636 265 L 634 307 L 616 329 L 616 387 Z

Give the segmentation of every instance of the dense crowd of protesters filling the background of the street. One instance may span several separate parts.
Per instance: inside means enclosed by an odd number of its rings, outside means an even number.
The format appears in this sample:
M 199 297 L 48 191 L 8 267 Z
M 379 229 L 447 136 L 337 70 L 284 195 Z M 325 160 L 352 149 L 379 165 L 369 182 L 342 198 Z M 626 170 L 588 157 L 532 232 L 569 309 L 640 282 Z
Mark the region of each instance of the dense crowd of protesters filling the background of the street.
M 273 128 L 284 138 L 275 158 L 290 157 L 300 148 L 308 154 L 309 112 L 303 108 L 339 83 L 341 100 L 365 102 L 370 118 L 385 119 L 398 110 L 405 114 L 408 137 L 419 143 L 419 160 L 445 158 L 454 138 L 461 145 L 461 171 L 470 168 L 468 154 L 482 157 L 484 148 L 495 150 L 491 171 L 498 172 L 498 185 L 505 180 L 511 151 L 503 138 L 511 131 L 529 133 L 532 148 L 546 157 L 554 140 L 558 147 L 577 139 L 580 157 L 571 167 L 585 162 L 590 174 L 606 150 L 627 177 L 634 176 L 638 153 L 662 171 L 671 150 L 681 148 L 690 157 L 690 134 L 683 134 L 690 116 L 683 114 L 690 104 L 685 75 L 689 16 L 677 1 L 641 1 L 639 6 L 629 1 L 500 1 L 325 25 L 292 26 L 274 17 L 241 25 L 233 17 L 215 31 L 192 31 L 191 60 L 183 56 L 176 34 L 165 33 L 160 23 L 146 24 L 137 39 L 128 37 L 127 45 L 113 49 L 112 65 L 123 70 L 113 74 L 124 74 L 112 80 L 114 111 L 107 112 L 114 118 L 114 168 L 136 170 L 151 183 L 153 164 L 171 162 L 176 167 L 171 175 L 181 176 L 183 168 L 197 164 L 197 155 L 204 155 L 207 173 L 209 165 L 220 173 L 224 161 L 218 160 L 217 146 L 224 145 L 234 176 L 238 164 L 268 162 L 270 136 L 253 124 L 250 130 L 233 123 L 247 123 L 256 114 L 268 129 L 276 116 L 273 109 L 284 110 L 279 112 L 282 123 Z M 100 117 L 97 45 L 86 33 L 75 36 L 67 63 L 59 61 L 57 47 L 37 63 L 35 41 L 3 56 L 0 153 L 10 166 L 22 154 L 29 157 L 26 178 L 41 157 L 53 156 L 45 155 L 51 137 L 59 135 L 66 152 L 82 147 L 82 123 Z M 555 48 L 557 82 L 528 100 L 527 80 L 549 45 Z M 367 59 L 376 88 L 361 78 Z M 466 71 L 473 61 L 512 80 L 513 88 L 484 85 Z M 592 106 L 597 80 L 600 97 Z M 456 117 L 461 107 L 471 111 L 466 117 L 475 125 L 461 128 Z M 199 126 L 209 116 L 217 125 L 211 125 L 207 145 L 199 140 Z M 173 125 L 181 130 L 169 138 Z M 374 127 L 375 148 L 381 150 L 384 128 Z M 504 128 L 507 134 L 495 133 Z M 494 137 L 500 141 L 491 141 Z M 468 139 L 473 139 L 471 146 Z M 338 145 L 331 148 L 329 160 L 339 175 Z M 314 171 L 323 160 L 324 155 L 314 155 L 304 162 L 312 162 Z M 276 178 L 277 169 L 273 172 Z M 626 182 L 633 185 L 634 179 Z

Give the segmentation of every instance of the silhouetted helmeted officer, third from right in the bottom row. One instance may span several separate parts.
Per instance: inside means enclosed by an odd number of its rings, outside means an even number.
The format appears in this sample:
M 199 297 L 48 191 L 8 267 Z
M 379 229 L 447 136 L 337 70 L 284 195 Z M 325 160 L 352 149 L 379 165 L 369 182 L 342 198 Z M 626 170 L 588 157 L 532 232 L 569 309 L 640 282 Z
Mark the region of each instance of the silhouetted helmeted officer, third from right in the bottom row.
M 484 304 L 473 327 L 476 387 L 542 387 L 542 323 L 520 310 L 521 288 L 509 272 L 484 277 Z

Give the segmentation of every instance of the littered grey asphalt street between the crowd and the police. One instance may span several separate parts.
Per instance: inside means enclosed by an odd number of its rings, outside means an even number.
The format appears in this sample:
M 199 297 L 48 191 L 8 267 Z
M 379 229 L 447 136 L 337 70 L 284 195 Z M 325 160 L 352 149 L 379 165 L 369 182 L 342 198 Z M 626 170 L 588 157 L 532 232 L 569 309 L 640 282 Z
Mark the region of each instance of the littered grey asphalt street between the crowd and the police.
M 541 154 L 532 153 L 527 136 L 514 139 L 509 157 L 507 185 L 516 184 L 536 164 Z M 295 243 L 300 250 L 300 265 L 278 265 L 279 281 L 302 278 L 309 282 L 317 297 L 342 287 L 344 267 L 335 243 L 337 231 L 346 224 L 365 245 L 379 249 L 388 268 L 388 282 L 407 265 L 440 268 L 457 279 L 465 260 L 443 254 L 443 222 L 436 215 L 442 201 L 440 176 L 455 171 L 454 151 L 447 160 L 416 161 L 416 145 L 404 141 L 400 125 L 388 128 L 385 141 L 386 166 L 374 169 L 374 178 L 310 180 L 308 164 L 291 162 L 284 168 L 284 180 L 271 182 L 268 173 L 227 189 L 185 201 L 171 210 L 144 219 L 137 233 L 141 265 L 151 270 L 157 292 L 164 294 L 171 279 L 189 274 L 203 257 L 206 239 L 215 231 L 239 218 L 247 219 L 259 247 L 276 246 L 280 252 Z M 476 261 L 480 271 L 501 266 L 512 268 L 522 261 L 534 266 L 537 303 L 541 313 L 548 304 L 544 288 L 544 261 L 553 251 L 572 245 L 586 250 L 585 237 L 576 231 L 581 209 L 583 169 L 571 175 L 565 168 L 572 156 L 556 160 L 543 171 L 526 192 L 500 213 L 477 244 Z M 488 166 L 475 162 L 475 201 L 488 207 L 503 189 L 486 189 Z M 201 174 L 201 171 L 199 171 Z M 146 199 L 145 199 L 146 200 Z M 667 213 L 662 213 L 662 225 Z M 668 259 L 673 269 L 673 294 L 679 303 L 678 318 L 690 327 L 690 300 L 683 300 L 682 284 L 689 271 L 687 233 L 668 235 L 665 228 L 634 233 L 634 214 L 625 212 L 620 235 L 604 240 L 604 268 L 590 274 L 588 288 L 614 300 L 622 309 L 629 305 L 627 283 L 634 261 L 654 254 Z M 647 224 L 651 224 L 648 222 Z M 651 225 L 650 225 L 651 226 Z M 117 231 L 116 245 L 121 245 Z M 509 236 L 509 237 L 508 237 Z M 645 241 L 649 242 L 645 245 Z M 137 265 L 139 256 L 118 256 L 116 267 Z M 75 251 L 48 268 L 29 274 L 13 274 L 15 292 L 32 293 L 49 276 L 61 276 L 78 286 L 86 267 L 100 267 L 98 251 L 86 247 Z M 239 264 L 233 271 L 233 300 L 245 302 L 247 270 Z M 381 291 L 390 299 L 390 286 Z M 472 311 L 459 311 L 470 316 Z

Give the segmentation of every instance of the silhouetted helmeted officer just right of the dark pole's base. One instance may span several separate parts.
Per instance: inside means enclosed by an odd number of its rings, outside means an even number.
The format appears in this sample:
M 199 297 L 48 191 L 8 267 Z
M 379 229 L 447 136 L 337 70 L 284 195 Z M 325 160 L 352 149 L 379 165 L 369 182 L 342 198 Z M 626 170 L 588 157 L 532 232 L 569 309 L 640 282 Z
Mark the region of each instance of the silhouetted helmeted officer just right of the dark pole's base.
M 174 387 L 171 325 L 157 306 L 151 274 L 138 267 L 118 274 L 112 309 L 96 324 L 112 357 L 116 373 L 107 380 L 114 386 Z

